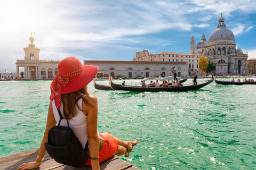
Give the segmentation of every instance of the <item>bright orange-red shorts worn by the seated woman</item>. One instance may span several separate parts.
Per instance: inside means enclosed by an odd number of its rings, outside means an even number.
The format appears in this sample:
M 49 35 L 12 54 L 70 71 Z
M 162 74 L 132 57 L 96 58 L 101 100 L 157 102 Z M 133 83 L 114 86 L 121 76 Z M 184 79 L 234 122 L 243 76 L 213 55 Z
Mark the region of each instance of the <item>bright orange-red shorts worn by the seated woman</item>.
M 114 138 L 103 137 L 102 134 L 100 134 L 100 137 L 104 139 L 103 147 L 99 152 L 99 162 L 102 163 L 103 161 L 115 155 L 118 149 L 118 142 Z M 87 162 L 84 165 L 91 166 L 91 159 L 88 158 Z

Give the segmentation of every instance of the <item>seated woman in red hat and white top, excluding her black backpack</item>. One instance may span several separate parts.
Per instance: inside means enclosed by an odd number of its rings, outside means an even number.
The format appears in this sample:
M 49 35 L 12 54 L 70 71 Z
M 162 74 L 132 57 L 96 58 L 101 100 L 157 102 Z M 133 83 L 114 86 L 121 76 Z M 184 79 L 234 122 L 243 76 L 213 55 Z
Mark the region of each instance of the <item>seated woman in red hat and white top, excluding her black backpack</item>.
M 95 96 L 87 93 L 87 84 L 92 81 L 99 68 L 82 65 L 76 57 L 67 57 L 59 63 L 58 69 L 59 73 L 51 84 L 51 101 L 38 157 L 35 162 L 22 164 L 17 169 L 34 169 L 41 165 L 46 152 L 44 144 L 47 142 L 48 131 L 60 120 L 58 109 L 69 121 L 70 128 L 82 146 L 85 147 L 86 142 L 89 142 L 89 159 L 85 165 L 100 169 L 99 163 L 114 155 L 129 156 L 138 140 L 122 141 L 109 132 L 98 132 L 98 101 Z M 67 121 L 62 120 L 61 125 L 67 126 Z

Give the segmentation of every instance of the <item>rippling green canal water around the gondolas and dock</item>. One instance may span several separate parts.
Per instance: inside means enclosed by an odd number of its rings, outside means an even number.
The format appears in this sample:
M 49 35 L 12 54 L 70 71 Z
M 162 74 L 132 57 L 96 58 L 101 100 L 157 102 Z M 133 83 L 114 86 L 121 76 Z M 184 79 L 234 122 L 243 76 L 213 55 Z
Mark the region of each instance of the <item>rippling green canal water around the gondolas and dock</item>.
M 0 82 L 0 157 L 39 148 L 50 84 Z M 130 157 L 121 158 L 140 169 L 256 169 L 255 85 L 128 92 L 96 90 L 91 82 L 89 92 L 99 99 L 99 132 L 139 140 Z

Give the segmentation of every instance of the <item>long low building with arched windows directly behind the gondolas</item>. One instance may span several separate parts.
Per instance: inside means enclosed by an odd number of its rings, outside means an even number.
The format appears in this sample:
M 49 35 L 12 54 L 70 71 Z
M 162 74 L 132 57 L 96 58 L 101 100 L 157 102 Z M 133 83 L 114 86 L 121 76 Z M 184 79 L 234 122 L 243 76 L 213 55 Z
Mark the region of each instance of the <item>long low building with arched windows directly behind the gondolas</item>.
M 97 77 L 113 78 L 142 78 L 142 77 L 167 77 L 175 66 L 178 77 L 186 77 L 186 62 L 165 61 L 84 61 L 84 64 L 99 67 Z

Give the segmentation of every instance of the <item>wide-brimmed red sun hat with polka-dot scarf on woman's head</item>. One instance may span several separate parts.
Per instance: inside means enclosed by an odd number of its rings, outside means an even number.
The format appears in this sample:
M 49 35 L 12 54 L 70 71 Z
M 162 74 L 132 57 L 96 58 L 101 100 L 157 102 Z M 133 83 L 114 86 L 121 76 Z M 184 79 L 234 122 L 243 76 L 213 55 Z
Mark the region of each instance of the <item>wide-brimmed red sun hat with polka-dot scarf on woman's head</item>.
M 57 109 L 60 108 L 61 94 L 69 94 L 85 87 L 95 77 L 99 67 L 83 65 L 76 57 L 67 57 L 59 63 L 58 69 L 51 84 L 50 96 L 50 100 L 55 99 Z

